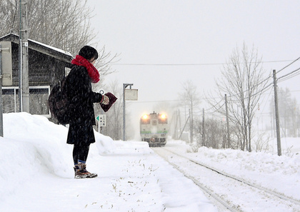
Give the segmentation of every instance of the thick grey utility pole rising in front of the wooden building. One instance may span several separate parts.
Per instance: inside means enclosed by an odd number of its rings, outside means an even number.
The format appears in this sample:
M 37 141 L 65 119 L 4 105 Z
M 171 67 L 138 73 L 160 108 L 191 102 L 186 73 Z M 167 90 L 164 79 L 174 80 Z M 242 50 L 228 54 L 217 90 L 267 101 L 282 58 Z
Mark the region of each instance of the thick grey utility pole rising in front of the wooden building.
M 29 57 L 27 20 L 26 0 L 20 0 L 19 100 L 20 111 L 29 113 Z

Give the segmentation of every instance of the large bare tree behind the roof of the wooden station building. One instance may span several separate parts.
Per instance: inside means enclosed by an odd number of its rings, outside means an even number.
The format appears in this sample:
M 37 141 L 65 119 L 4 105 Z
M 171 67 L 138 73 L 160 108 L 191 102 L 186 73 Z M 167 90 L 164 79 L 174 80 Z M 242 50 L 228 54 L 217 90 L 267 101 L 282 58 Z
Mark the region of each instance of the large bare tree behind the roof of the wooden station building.
M 114 72 L 110 64 L 116 62 L 118 55 L 106 52 L 105 46 L 96 45 L 96 34 L 90 23 L 94 11 L 89 8 L 87 0 L 26 2 L 29 39 L 69 51 L 73 56 L 82 46 L 90 44 L 99 49 L 95 66 L 101 76 Z M 19 34 L 19 12 L 19 0 L 0 1 L 0 36 L 10 32 Z

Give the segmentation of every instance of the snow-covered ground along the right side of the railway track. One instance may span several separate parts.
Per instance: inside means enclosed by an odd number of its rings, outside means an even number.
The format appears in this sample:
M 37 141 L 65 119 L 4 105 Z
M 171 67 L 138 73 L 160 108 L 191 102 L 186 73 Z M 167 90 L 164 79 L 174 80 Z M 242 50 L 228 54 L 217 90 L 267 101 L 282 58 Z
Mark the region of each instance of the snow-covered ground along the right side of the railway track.
M 289 146 L 286 146 L 288 143 Z M 198 152 L 191 153 L 191 147 L 186 146 L 183 141 L 171 141 L 166 144 L 166 148 L 218 171 L 257 186 L 270 188 L 276 193 L 283 193 L 300 203 L 300 152 L 291 153 L 293 146 L 297 145 L 300 146 L 300 138 L 298 141 L 295 138 L 289 138 L 283 145 L 289 148 L 289 151 L 284 151 L 289 156 L 206 147 L 201 147 Z

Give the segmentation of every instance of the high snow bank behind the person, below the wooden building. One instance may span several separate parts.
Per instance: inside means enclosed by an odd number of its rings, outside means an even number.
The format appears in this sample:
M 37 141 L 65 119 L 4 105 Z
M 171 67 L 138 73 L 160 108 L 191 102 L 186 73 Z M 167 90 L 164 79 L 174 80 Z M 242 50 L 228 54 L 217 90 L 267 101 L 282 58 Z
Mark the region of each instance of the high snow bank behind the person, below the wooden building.
M 0 196 L 12 194 L 21 184 L 43 174 L 72 176 L 72 145 L 66 144 L 68 128 L 44 116 L 29 113 L 4 114 L 4 138 L 0 137 Z M 111 138 L 95 133 L 91 155 L 111 153 Z

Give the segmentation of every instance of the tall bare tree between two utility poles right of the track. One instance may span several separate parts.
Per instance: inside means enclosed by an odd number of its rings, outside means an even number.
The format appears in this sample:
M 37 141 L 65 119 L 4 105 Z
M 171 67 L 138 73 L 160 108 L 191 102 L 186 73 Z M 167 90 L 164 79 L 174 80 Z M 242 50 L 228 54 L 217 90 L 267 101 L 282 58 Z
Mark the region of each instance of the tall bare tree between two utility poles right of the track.
M 243 49 L 234 49 L 216 81 L 219 96 L 228 96 L 229 120 L 239 131 L 241 150 L 251 151 L 252 121 L 269 79 L 264 73 L 258 51 L 254 46 L 249 50 L 244 44 Z M 225 114 L 224 107 L 218 111 Z

